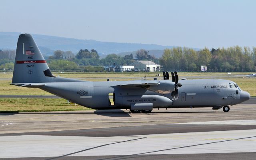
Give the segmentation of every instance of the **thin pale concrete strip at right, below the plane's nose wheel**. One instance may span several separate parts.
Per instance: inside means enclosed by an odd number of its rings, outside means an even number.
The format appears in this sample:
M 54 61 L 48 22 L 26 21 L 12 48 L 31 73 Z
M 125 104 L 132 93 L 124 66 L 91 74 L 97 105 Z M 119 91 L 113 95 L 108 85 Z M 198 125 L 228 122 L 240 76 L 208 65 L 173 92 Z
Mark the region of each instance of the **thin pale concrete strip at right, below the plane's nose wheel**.
M 176 124 L 256 125 L 256 120 L 220 120 L 220 121 L 187 122 L 187 123 L 176 123 Z

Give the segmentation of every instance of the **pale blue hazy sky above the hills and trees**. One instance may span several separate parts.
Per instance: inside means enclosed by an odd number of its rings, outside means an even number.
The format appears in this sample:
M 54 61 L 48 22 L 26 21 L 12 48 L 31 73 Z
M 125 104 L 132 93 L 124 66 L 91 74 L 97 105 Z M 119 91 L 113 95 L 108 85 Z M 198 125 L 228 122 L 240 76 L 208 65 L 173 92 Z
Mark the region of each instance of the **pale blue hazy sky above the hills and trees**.
M 106 42 L 256 46 L 255 0 L 0 0 L 0 31 Z

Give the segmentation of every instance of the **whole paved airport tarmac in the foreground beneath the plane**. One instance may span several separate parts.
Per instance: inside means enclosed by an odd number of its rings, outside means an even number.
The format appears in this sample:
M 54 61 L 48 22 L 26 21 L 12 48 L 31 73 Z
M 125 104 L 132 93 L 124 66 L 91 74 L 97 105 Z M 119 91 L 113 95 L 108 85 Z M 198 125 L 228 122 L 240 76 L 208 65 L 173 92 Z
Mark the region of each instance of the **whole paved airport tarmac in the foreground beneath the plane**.
M 0 113 L 0 158 L 251 159 L 256 104 L 211 108 Z

